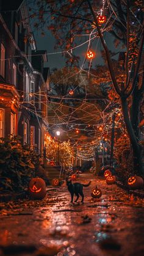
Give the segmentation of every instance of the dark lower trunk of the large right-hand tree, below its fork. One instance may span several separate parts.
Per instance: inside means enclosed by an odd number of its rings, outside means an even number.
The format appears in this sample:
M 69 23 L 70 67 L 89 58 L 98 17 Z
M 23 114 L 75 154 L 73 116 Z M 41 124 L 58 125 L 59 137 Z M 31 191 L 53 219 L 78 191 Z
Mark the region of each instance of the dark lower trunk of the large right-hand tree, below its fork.
M 135 136 L 131 121 L 129 119 L 128 105 L 127 105 L 126 98 L 121 97 L 121 106 L 123 109 L 124 123 L 126 125 L 126 130 L 128 132 L 129 139 L 132 146 L 132 151 L 133 151 L 134 172 L 137 175 L 143 175 L 142 148 L 140 147 L 139 142 L 137 141 L 137 137 Z

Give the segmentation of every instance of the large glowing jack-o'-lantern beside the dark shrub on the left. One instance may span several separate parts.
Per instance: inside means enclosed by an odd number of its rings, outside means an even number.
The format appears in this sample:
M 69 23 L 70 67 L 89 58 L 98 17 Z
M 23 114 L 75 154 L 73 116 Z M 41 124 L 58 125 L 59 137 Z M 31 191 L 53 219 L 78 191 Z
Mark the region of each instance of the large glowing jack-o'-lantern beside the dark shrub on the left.
M 42 178 L 32 178 L 28 187 L 31 199 L 43 199 L 46 196 L 46 183 Z

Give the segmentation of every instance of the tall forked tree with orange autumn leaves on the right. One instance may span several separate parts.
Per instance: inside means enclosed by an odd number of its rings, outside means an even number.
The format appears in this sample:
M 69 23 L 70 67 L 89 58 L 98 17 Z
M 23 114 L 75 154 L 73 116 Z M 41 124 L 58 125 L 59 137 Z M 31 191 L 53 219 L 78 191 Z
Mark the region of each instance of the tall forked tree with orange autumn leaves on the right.
M 83 42 L 88 41 L 88 46 L 92 46 L 95 38 L 100 38 L 106 54 L 113 89 L 120 97 L 124 123 L 134 155 L 135 173 L 142 175 L 142 147 L 139 143 L 138 125 L 140 103 L 144 91 L 142 1 L 117 0 L 108 1 L 108 4 L 105 1 L 102 5 L 99 1 L 92 0 L 38 1 L 37 6 L 39 23 L 36 22 L 35 27 L 44 29 L 47 26 L 56 37 L 57 46 L 63 49 L 63 53 L 76 47 L 79 38 L 82 38 Z M 107 23 L 103 25 L 98 23 L 98 16 L 101 12 L 107 15 Z M 36 11 L 35 15 L 37 15 Z M 115 43 L 117 45 L 123 43 L 126 48 L 120 50 L 123 53 L 123 59 L 120 60 L 123 74 L 119 78 L 113 69 L 110 51 L 104 40 L 106 33 L 113 34 L 117 38 Z

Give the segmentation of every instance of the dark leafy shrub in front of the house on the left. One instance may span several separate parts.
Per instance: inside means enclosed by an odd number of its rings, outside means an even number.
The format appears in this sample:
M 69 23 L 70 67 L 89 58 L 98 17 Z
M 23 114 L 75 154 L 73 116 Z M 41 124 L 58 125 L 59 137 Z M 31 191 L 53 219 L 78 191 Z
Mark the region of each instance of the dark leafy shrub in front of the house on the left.
M 28 145 L 21 145 L 20 137 L 1 138 L 0 141 L 0 190 L 20 192 L 25 189 L 35 167 L 39 165 L 37 153 Z

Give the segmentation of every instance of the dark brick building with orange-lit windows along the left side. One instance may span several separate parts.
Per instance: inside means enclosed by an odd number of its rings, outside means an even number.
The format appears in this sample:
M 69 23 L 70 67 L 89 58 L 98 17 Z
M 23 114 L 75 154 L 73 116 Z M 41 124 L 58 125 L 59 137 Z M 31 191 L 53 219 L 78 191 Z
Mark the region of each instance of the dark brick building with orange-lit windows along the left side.
M 49 68 L 37 51 L 25 1 L 0 4 L 0 136 L 20 135 L 41 153 L 48 127 Z

